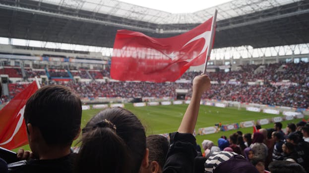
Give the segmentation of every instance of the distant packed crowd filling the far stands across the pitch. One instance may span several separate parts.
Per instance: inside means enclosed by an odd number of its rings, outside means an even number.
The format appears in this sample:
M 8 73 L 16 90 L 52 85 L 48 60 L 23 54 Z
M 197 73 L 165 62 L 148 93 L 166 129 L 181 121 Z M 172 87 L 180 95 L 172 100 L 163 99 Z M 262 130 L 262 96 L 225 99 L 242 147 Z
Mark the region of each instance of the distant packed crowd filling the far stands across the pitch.
M 265 65 L 261 72 L 253 73 L 259 65 L 242 66 L 238 72 L 213 72 L 209 73 L 212 81 L 218 84 L 212 85 L 209 92 L 202 98 L 229 100 L 248 103 L 258 103 L 288 107 L 309 107 L 309 63 L 289 63 Z M 186 72 L 181 79 L 191 80 L 201 72 Z M 51 77 L 68 77 L 67 72 L 50 71 Z M 93 79 L 103 79 L 109 76 L 109 68 L 103 71 L 91 71 L 89 74 Z M 85 70 L 72 73 L 89 79 Z M 227 81 L 235 79 L 236 83 Z M 254 82 L 256 79 L 264 81 L 263 84 L 249 85 L 246 82 Z M 272 85 L 270 82 L 281 82 L 290 80 L 299 85 Z M 227 82 L 227 83 L 223 83 Z M 240 82 L 240 83 L 237 83 Z M 91 83 L 63 83 L 70 87 L 80 97 L 172 97 L 176 98 L 176 89 L 188 89 L 187 97 L 191 96 L 191 86 L 188 83 L 147 83 L 147 82 L 91 82 Z M 18 90 L 10 89 L 10 95 L 15 95 Z

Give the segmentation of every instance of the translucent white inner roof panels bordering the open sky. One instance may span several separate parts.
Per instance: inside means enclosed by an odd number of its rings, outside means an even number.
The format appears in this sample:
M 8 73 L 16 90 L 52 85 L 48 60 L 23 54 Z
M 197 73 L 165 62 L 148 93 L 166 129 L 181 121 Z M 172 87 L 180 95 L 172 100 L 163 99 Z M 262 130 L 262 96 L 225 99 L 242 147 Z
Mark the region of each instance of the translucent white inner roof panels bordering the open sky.
M 229 19 L 256 11 L 261 11 L 301 0 L 233 0 L 194 13 L 173 14 L 156 9 L 146 8 L 118 0 L 34 0 L 41 3 L 54 4 L 60 8 L 73 8 L 95 13 L 109 14 L 155 24 L 187 24 L 203 23 L 213 16 L 215 9 L 217 20 Z M 164 4 L 162 4 L 164 5 Z

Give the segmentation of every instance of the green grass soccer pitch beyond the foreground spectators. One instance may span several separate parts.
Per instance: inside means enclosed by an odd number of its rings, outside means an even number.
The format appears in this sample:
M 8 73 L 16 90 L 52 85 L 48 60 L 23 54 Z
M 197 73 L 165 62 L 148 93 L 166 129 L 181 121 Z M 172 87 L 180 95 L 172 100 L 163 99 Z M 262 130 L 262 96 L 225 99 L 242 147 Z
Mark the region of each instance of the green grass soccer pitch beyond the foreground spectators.
M 182 105 L 168 105 L 168 106 L 145 106 L 145 107 L 134 107 L 133 104 L 125 104 L 125 109 L 128 109 L 132 113 L 134 113 L 142 122 L 146 129 L 146 135 L 150 134 L 161 134 L 161 133 L 169 133 L 177 131 L 183 115 L 185 114 L 185 110 L 187 108 L 187 104 Z M 86 123 L 96 115 L 101 110 L 99 109 L 91 109 L 91 110 L 83 110 L 82 112 L 82 125 L 81 127 L 85 127 Z M 280 115 L 266 114 L 262 112 L 250 112 L 245 109 L 238 110 L 238 108 L 234 107 L 226 107 L 219 108 L 214 106 L 204 106 L 201 105 L 199 109 L 199 115 L 197 119 L 197 123 L 195 126 L 196 133 L 198 133 L 199 128 L 211 127 L 219 122 L 222 125 L 232 124 L 232 123 L 240 123 L 245 121 L 250 121 L 264 118 L 272 118 L 278 117 Z M 308 116 L 305 117 L 308 120 Z M 294 119 L 291 121 L 283 121 L 283 128 L 286 128 L 288 123 L 298 123 L 301 119 Z M 263 125 L 262 128 L 273 128 L 273 123 L 268 125 Z M 240 128 L 239 130 L 243 131 L 243 133 L 252 133 L 253 128 Z M 229 130 L 229 131 L 220 131 L 214 134 L 207 135 L 196 135 L 197 144 L 201 145 L 204 139 L 209 139 L 217 145 L 217 140 L 221 135 L 229 136 L 238 130 Z M 73 146 L 76 144 L 76 141 L 73 142 Z M 28 145 L 23 147 L 26 150 L 30 150 Z M 17 151 L 18 149 L 14 149 L 13 151 Z

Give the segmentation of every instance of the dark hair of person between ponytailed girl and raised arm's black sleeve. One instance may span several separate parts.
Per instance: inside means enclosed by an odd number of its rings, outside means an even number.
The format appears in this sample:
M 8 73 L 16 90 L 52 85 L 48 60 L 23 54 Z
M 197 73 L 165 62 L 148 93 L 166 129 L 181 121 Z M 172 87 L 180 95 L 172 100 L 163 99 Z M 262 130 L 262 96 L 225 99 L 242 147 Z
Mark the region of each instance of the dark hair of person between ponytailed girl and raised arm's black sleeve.
M 157 161 L 163 169 L 166 155 L 169 150 L 169 141 L 166 137 L 155 134 L 146 138 L 147 148 L 149 149 L 149 162 Z

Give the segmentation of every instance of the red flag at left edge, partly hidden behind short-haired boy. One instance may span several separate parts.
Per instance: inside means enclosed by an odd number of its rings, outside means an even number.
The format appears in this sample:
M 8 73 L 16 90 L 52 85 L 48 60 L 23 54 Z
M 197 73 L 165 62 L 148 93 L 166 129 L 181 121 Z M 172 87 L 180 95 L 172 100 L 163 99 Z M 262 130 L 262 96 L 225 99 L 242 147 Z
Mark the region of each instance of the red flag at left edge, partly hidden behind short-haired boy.
M 34 81 L 0 110 L 0 146 L 14 149 L 28 143 L 24 111 L 28 98 L 38 90 Z

